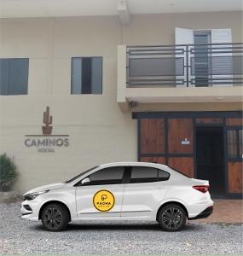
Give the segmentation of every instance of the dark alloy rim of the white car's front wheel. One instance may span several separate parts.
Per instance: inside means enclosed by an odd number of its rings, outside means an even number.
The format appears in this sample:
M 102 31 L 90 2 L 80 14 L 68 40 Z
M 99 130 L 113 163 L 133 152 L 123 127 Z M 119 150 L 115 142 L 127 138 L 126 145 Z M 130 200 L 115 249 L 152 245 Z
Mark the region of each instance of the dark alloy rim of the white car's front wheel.
M 61 212 L 56 207 L 49 207 L 43 213 L 43 222 L 49 229 L 55 229 L 61 225 Z

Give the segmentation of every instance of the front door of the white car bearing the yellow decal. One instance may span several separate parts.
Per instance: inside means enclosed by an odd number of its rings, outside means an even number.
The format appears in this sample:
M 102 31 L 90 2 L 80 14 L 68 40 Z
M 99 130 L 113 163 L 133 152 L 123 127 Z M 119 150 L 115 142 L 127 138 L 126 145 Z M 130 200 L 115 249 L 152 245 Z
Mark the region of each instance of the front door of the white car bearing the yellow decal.
M 124 166 L 113 166 L 91 173 L 87 176 L 90 183 L 78 183 L 78 218 L 120 218 L 124 193 L 123 176 Z

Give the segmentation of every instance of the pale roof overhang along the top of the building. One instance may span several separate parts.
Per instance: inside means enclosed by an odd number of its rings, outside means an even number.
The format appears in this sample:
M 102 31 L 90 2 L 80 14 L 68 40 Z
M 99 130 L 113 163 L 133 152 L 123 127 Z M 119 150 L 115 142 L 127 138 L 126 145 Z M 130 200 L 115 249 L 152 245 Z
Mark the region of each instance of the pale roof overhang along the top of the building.
M 196 3 L 195 3 L 196 2 Z M 242 10 L 241 0 L 0 0 L 0 18 L 130 15 Z

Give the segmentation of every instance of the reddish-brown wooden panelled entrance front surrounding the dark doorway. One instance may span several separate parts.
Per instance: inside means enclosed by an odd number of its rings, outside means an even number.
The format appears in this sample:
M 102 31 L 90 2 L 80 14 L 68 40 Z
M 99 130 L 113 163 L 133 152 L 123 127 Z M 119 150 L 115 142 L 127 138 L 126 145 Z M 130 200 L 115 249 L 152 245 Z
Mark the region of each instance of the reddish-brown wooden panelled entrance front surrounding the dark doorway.
M 242 120 L 240 113 L 143 113 L 138 121 L 138 160 L 165 164 L 194 177 L 194 127 L 222 126 L 226 191 L 242 195 Z

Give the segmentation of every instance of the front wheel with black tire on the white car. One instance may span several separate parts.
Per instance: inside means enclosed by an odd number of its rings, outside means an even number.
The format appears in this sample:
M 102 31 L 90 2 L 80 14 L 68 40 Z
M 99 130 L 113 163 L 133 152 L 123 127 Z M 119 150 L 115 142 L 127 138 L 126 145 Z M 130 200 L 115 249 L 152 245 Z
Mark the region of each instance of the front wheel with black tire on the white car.
M 67 207 L 53 203 L 43 208 L 41 220 L 45 230 L 58 232 L 66 229 L 70 218 Z

